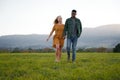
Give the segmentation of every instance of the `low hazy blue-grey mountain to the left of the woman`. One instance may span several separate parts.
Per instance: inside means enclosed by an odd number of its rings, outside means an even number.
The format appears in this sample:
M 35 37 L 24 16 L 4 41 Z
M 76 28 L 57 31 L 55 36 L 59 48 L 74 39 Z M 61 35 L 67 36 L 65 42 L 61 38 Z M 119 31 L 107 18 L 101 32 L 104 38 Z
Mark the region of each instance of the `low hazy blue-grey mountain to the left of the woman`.
M 9 35 L 0 37 L 0 48 L 45 48 L 52 41 L 46 41 L 48 35 Z

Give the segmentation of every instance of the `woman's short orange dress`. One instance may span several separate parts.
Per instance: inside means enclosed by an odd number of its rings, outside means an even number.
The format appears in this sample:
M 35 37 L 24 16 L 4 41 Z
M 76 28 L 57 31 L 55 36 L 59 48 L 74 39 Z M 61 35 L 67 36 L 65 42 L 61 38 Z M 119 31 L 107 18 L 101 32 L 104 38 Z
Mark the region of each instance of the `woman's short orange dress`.
M 55 35 L 53 37 L 53 47 L 56 48 L 56 45 L 60 45 L 62 48 L 64 45 L 64 38 L 63 38 L 63 30 L 64 25 L 63 24 L 55 24 L 53 26 L 53 30 L 55 31 Z

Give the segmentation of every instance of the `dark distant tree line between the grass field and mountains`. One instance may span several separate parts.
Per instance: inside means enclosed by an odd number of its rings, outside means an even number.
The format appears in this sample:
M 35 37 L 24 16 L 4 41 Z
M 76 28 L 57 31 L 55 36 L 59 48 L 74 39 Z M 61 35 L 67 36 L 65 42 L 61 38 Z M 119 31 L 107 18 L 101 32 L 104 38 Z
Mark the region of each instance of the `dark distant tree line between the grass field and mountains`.
M 63 52 L 66 52 L 66 49 L 62 50 Z M 53 48 L 42 48 L 42 49 L 21 49 L 21 48 L 1 48 L 0 53 L 52 53 L 55 52 L 55 49 Z M 105 48 L 105 47 L 99 47 L 99 48 L 78 48 L 77 52 L 115 52 L 120 53 L 120 43 L 115 46 L 115 48 Z

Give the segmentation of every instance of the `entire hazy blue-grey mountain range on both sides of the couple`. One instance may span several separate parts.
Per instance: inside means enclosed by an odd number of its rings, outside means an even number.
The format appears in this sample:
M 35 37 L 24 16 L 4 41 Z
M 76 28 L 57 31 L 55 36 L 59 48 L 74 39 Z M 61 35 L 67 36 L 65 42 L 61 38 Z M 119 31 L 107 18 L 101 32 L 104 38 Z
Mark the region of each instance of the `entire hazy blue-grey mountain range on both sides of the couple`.
M 6 35 L 0 37 L 0 48 L 46 48 L 52 47 L 52 38 L 48 35 Z M 104 25 L 96 28 L 84 28 L 78 39 L 79 48 L 113 48 L 120 43 L 120 24 Z M 66 42 L 65 42 L 66 46 Z

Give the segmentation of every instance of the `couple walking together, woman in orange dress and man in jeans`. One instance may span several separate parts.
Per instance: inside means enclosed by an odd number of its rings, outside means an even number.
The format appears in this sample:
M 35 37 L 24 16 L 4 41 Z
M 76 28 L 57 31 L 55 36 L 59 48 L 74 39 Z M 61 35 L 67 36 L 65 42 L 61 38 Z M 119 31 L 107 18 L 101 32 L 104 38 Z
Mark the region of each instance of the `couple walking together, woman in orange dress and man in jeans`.
M 53 47 L 56 49 L 56 62 L 59 62 L 61 59 L 65 38 L 67 38 L 67 60 L 70 61 L 70 49 L 72 46 L 72 62 L 75 62 L 77 40 L 82 32 L 82 24 L 80 19 L 76 18 L 76 13 L 76 10 L 72 10 L 71 17 L 66 19 L 65 24 L 62 23 L 62 17 L 57 16 L 54 21 L 52 31 L 47 38 L 48 41 L 55 31 L 55 35 L 53 37 Z

